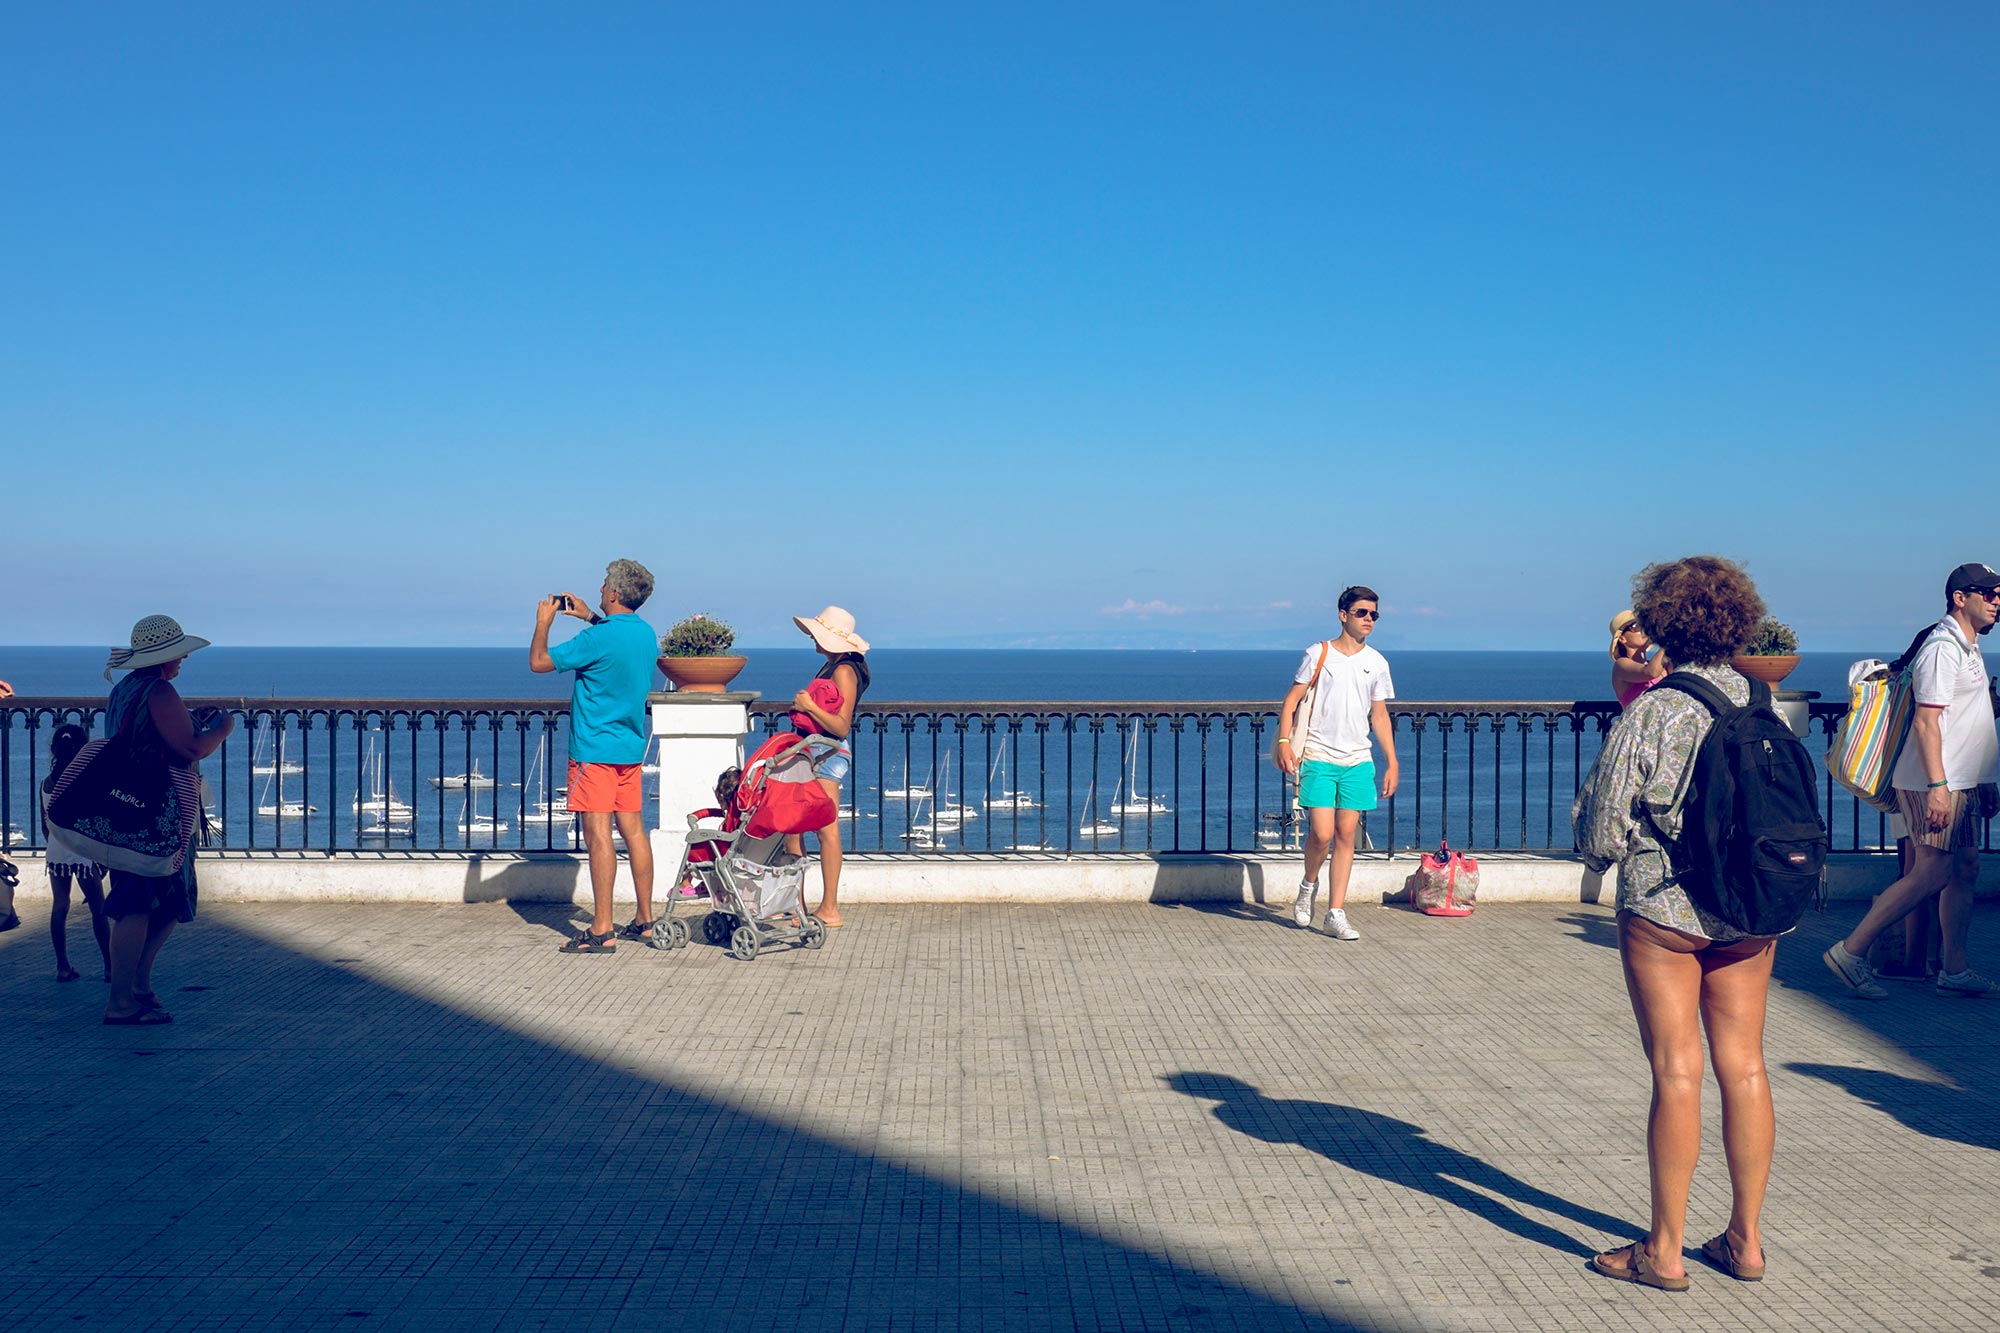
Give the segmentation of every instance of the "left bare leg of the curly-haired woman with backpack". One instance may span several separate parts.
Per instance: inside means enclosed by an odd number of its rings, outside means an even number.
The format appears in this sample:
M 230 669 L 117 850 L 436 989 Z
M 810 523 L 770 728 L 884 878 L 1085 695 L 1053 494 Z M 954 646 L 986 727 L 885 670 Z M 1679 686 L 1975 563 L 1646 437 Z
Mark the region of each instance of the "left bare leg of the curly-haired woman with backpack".
M 1618 955 L 1652 1065 L 1646 1165 L 1652 1173 L 1652 1227 L 1640 1247 L 1664 1277 L 1684 1277 L 1688 1187 L 1702 1153 L 1702 963 L 1706 941 L 1618 915 Z

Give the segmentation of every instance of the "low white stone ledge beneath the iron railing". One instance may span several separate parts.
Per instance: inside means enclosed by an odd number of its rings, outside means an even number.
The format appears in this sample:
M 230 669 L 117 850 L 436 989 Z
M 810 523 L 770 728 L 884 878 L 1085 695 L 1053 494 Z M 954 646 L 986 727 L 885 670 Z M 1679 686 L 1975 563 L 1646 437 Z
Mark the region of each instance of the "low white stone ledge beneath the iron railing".
M 32 893 L 42 879 L 42 857 L 14 859 L 22 891 Z M 1576 857 L 1490 853 L 1478 861 L 1482 903 L 1596 903 L 1614 893 L 1616 877 L 1590 875 Z M 1358 857 L 1350 899 L 1380 903 L 1414 869 L 1408 855 Z M 660 871 L 660 893 L 670 875 L 672 867 Z M 240 903 L 590 901 L 588 865 L 570 853 L 202 853 L 200 877 L 206 897 Z M 1866 901 L 1892 879 L 1888 857 L 1836 855 L 1828 897 Z M 1290 903 L 1296 885 L 1296 855 L 848 857 L 840 897 L 844 903 Z M 620 869 L 618 897 L 628 903 L 630 895 Z M 808 895 L 818 897 L 816 885 Z M 1980 897 L 1996 895 L 2000 871 L 1988 869 Z

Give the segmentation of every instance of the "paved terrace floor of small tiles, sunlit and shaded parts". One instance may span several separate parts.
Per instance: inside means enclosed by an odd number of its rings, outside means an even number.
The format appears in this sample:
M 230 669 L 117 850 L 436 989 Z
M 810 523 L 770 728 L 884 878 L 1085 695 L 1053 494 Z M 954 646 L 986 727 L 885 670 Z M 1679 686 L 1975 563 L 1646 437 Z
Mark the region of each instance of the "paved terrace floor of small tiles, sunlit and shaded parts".
M 2000 1321 L 2000 1001 L 1836 999 L 1814 953 L 1856 909 L 1782 947 L 1770 1281 L 1666 1295 L 1584 1269 L 1646 1213 L 1600 907 L 1364 907 L 1358 945 L 856 907 L 746 965 L 560 957 L 564 909 L 216 903 L 164 957 L 180 1021 L 106 1029 L 24 889 L 6 1329 Z M 2000 971 L 2000 911 L 1978 941 Z

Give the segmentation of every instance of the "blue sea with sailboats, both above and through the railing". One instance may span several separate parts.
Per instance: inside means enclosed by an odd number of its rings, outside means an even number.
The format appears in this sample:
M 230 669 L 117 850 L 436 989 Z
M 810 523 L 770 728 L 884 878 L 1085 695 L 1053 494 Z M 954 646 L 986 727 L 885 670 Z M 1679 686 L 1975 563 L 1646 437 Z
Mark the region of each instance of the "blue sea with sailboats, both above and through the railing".
M 1892 644 L 1888 652 L 1900 650 Z M 1296 845 L 1290 787 L 1268 761 L 1262 719 L 1290 687 L 1298 650 L 876 648 L 872 687 L 842 785 L 856 851 L 1072 855 L 1274 851 Z M 746 648 L 734 689 L 790 701 L 822 658 Z M 1860 654 L 1808 652 L 1786 681 L 1846 693 Z M 566 675 L 528 671 L 518 648 L 212 646 L 176 681 L 224 701 L 244 725 L 204 763 L 222 847 L 256 851 L 554 851 L 576 847 L 562 805 L 560 711 L 494 715 L 444 701 L 568 699 Z M 1396 697 L 1416 703 L 1610 699 L 1602 652 L 1388 652 Z M 22 699 L 102 701 L 104 648 L 0 648 Z M 260 701 L 406 701 L 390 711 L 258 709 Z M 1232 703 L 1180 717 L 1050 717 L 992 705 Z M 910 705 L 890 709 L 888 705 Z M 946 709 L 940 705 L 988 705 Z M 998 717 L 996 717 L 998 715 Z M 1594 719 L 1508 711 L 1398 727 L 1402 791 L 1364 825 L 1376 849 L 1564 851 L 1568 807 L 1602 743 Z M 34 785 L 46 727 L 0 711 L 0 839 L 38 841 Z M 752 737 L 750 745 L 756 743 Z M 1824 737 L 1808 739 L 1818 753 Z M 662 813 L 646 777 L 646 821 Z M 1836 845 L 1880 839 L 1880 821 L 1828 795 Z

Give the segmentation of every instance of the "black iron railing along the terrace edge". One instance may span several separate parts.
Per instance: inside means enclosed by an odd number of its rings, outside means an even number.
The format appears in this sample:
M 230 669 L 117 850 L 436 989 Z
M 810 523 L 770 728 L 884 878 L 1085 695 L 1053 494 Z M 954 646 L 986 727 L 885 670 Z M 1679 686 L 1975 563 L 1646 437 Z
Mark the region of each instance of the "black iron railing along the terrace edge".
M 568 707 L 550 701 L 194 701 L 236 733 L 202 765 L 218 845 L 236 851 L 570 851 Z M 1812 705 L 1824 753 L 1838 705 Z M 100 699 L 0 703 L 0 839 L 40 847 L 50 733 L 102 727 Z M 784 727 L 752 709 L 752 733 Z M 1570 803 L 1612 703 L 1392 703 L 1402 785 L 1366 817 L 1378 851 L 1448 839 L 1566 853 Z M 882 703 L 852 737 L 842 841 L 864 853 L 1254 853 L 1298 845 L 1270 763 L 1268 703 Z M 648 755 L 652 759 L 652 755 Z M 1824 779 L 1836 851 L 1886 819 Z M 660 811 L 648 783 L 646 823 Z M 680 813 L 668 813 L 678 825 Z

